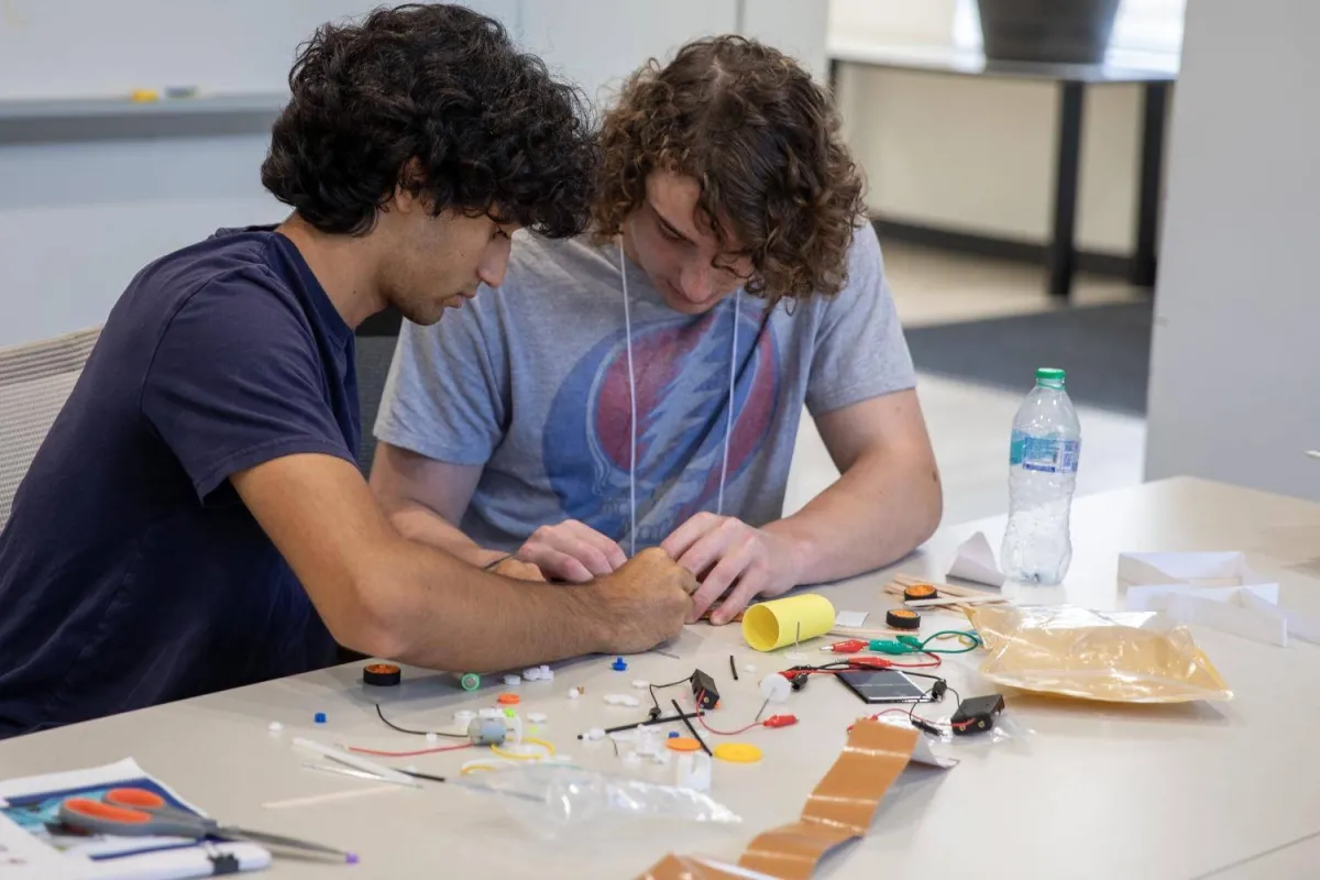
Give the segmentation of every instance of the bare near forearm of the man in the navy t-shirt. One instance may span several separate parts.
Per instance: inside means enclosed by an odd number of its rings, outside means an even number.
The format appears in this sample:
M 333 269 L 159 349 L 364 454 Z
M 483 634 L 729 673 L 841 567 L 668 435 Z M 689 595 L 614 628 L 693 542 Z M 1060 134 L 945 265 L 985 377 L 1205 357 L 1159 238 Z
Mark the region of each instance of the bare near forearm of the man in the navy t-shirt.
M 482 673 L 595 653 L 605 641 L 591 584 L 512 581 L 411 541 L 381 548 L 370 571 L 364 604 L 392 660 Z

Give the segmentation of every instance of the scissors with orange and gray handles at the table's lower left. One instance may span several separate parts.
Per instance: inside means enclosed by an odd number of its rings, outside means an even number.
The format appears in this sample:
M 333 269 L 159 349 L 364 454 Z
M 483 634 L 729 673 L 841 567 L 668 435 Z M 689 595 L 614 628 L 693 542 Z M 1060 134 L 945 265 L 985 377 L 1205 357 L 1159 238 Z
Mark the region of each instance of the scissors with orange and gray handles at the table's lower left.
M 342 850 L 285 838 L 277 834 L 247 831 L 222 826 L 215 819 L 207 819 L 186 810 L 178 810 L 166 803 L 165 798 L 147 789 L 111 789 L 100 801 L 86 797 L 71 797 L 59 805 L 59 821 L 73 829 L 92 834 L 114 834 L 120 836 L 174 836 L 201 840 L 216 836 L 227 840 L 248 840 L 273 847 L 288 847 L 309 852 L 325 852 L 356 859 Z

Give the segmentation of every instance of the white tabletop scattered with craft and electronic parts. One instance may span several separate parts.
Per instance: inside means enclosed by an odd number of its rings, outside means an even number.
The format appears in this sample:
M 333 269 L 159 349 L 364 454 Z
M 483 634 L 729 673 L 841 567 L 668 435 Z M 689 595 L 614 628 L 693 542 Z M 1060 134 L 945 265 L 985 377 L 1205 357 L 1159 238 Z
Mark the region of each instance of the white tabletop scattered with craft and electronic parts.
M 977 529 L 998 545 L 1003 519 L 941 530 L 895 570 L 937 577 L 952 549 Z M 1063 588 L 1031 598 L 1111 608 L 1117 554 L 1123 550 L 1242 550 L 1278 578 L 1284 607 L 1320 613 L 1320 505 L 1199 480 L 1170 480 L 1080 499 L 1074 561 Z M 824 587 L 837 608 L 873 615 L 890 603 L 886 574 Z M 936 615 L 931 615 L 936 617 Z M 957 617 L 941 617 L 956 623 Z M 940 620 L 928 620 L 933 627 Z M 1234 863 L 1224 876 L 1291 876 L 1284 847 L 1320 831 L 1320 649 L 1287 649 L 1197 631 L 1197 640 L 1237 698 L 1177 707 L 1113 707 L 1010 697 L 1008 712 L 1034 730 L 998 745 L 965 745 L 948 772 L 916 768 L 890 790 L 859 844 L 830 856 L 821 876 L 903 872 L 923 877 L 1196 877 Z M 549 715 L 545 736 L 578 763 L 623 770 L 606 743 L 576 735 L 593 726 L 640 719 L 642 710 L 606 706 L 606 693 L 635 693 L 634 678 L 667 682 L 700 666 L 722 689 L 711 724 L 733 727 L 760 706 L 756 679 L 788 665 L 748 649 L 734 627 L 690 627 L 659 654 L 585 658 L 557 668 L 553 682 L 524 683 L 523 711 Z M 813 656 L 816 644 L 808 648 Z M 756 674 L 734 682 L 729 656 Z M 975 654 L 950 657 L 944 674 L 964 695 L 989 693 Z M 376 719 L 356 665 L 327 669 L 169 706 L 0 743 L 0 777 L 90 767 L 133 756 L 185 797 L 234 823 L 354 850 L 362 864 L 346 876 L 628 877 L 675 851 L 735 860 L 758 833 L 796 818 L 807 794 L 834 761 L 845 727 L 866 710 L 841 683 L 813 681 L 795 694 L 796 727 L 758 730 L 766 760 L 715 763 L 711 794 L 743 817 L 741 826 L 632 823 L 587 829 L 557 842 L 535 838 L 488 797 L 446 785 L 391 789 L 292 809 L 263 803 L 379 788 L 375 782 L 304 769 L 289 741 L 306 734 L 376 748 L 422 748 L 420 736 L 393 734 Z M 569 701 L 566 690 L 585 685 Z M 444 726 L 457 708 L 492 705 L 500 687 L 463 693 L 454 677 L 405 670 L 387 695 L 392 720 Z M 673 689 L 672 694 L 677 694 Z M 933 707 L 932 711 L 937 711 Z M 314 727 L 315 711 L 329 724 Z M 944 710 L 945 712 L 948 708 Z M 285 732 L 267 731 L 280 720 Z M 718 741 L 719 738 L 715 738 Z M 412 759 L 445 774 L 477 749 Z M 400 761 L 403 764 L 403 761 Z M 1305 846 L 1305 844 L 1298 844 Z M 1261 856 L 1257 862 L 1245 862 Z M 1283 859 L 1283 860 L 1280 860 Z M 1315 864 L 1315 860 L 1300 862 Z M 280 877 L 333 876 L 323 864 L 279 860 Z

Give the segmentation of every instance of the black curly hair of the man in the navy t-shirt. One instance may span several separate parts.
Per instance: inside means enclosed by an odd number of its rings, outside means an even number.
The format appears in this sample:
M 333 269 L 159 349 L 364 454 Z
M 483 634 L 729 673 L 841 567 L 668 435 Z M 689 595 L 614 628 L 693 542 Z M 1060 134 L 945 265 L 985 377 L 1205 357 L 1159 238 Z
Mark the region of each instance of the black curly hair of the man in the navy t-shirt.
M 323 232 L 370 232 L 396 187 L 548 237 L 590 219 L 597 144 L 576 87 L 453 5 L 376 9 L 300 46 L 261 183 Z

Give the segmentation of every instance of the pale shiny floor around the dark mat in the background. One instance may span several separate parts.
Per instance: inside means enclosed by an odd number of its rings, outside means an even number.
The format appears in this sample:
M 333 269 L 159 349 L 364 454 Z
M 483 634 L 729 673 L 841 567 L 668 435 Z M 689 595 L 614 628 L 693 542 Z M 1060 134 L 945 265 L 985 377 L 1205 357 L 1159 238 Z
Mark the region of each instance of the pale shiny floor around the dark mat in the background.
M 882 243 L 883 244 L 883 243 Z M 904 326 L 961 322 L 1007 314 L 1057 309 L 1041 293 L 1039 269 L 949 256 L 888 244 L 884 247 L 890 285 Z M 1084 278 L 1080 299 L 1098 305 L 1131 302 L 1138 292 L 1110 280 Z M 965 522 L 1007 509 L 1008 433 L 1020 393 L 982 388 L 923 375 L 917 387 L 935 454 L 944 478 L 944 521 Z M 1089 495 L 1142 482 L 1146 422 L 1134 416 L 1078 408 L 1082 458 L 1077 493 Z M 797 454 L 789 476 L 785 512 L 803 507 L 838 471 L 820 434 L 804 414 Z

